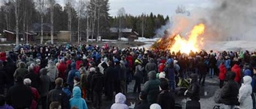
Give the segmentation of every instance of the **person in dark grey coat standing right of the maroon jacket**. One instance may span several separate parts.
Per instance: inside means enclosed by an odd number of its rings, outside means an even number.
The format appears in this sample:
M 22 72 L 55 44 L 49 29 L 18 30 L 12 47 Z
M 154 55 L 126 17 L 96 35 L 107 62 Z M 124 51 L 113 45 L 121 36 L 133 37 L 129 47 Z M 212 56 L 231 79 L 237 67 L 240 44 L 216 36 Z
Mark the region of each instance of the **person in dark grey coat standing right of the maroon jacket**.
M 46 109 L 46 99 L 47 99 L 47 94 L 49 92 L 50 88 L 50 77 L 47 76 L 47 69 L 42 68 L 40 70 L 40 86 L 39 86 L 39 92 L 41 96 L 41 102 L 42 102 L 42 109 Z

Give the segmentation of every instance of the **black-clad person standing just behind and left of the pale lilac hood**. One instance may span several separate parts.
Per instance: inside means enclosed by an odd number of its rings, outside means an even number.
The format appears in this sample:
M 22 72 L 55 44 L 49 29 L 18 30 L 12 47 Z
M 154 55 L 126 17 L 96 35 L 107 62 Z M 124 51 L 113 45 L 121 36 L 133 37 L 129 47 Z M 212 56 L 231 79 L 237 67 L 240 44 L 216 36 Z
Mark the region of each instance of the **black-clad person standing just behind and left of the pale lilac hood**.
M 110 65 L 108 68 L 106 68 L 104 75 L 106 77 L 106 96 L 107 99 L 111 100 L 113 99 L 113 91 L 114 91 L 114 67 L 111 61 L 108 62 Z

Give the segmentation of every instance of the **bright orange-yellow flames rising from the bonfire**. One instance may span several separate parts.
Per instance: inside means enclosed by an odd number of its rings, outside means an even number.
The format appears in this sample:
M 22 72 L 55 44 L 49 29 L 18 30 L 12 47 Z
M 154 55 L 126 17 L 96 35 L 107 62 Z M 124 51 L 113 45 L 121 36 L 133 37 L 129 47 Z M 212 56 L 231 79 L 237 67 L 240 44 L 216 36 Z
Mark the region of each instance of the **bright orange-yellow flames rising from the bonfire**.
M 189 54 L 190 51 L 198 52 L 199 45 L 202 45 L 203 38 L 198 39 L 199 35 L 202 35 L 205 30 L 205 25 L 199 24 L 195 25 L 192 29 L 189 39 L 186 40 L 185 38 L 181 37 L 180 35 L 177 35 L 174 37 L 174 45 L 170 47 L 170 51 L 173 51 L 175 53 L 178 53 L 180 51 L 181 53 Z

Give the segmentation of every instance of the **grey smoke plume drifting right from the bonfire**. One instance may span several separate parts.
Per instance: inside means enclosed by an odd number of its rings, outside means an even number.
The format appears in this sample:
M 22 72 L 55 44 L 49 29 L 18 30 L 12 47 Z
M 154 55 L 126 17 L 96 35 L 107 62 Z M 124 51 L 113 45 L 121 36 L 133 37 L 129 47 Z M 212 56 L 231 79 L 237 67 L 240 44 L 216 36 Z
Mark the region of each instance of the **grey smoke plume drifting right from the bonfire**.
M 256 1 L 255 0 L 211 0 L 207 8 L 197 8 L 190 11 L 190 16 L 183 14 L 171 18 L 168 34 L 180 33 L 186 36 L 194 25 L 206 25 L 205 40 L 256 41 Z M 163 26 L 156 31 L 161 34 Z M 161 33 L 160 33 L 161 32 Z

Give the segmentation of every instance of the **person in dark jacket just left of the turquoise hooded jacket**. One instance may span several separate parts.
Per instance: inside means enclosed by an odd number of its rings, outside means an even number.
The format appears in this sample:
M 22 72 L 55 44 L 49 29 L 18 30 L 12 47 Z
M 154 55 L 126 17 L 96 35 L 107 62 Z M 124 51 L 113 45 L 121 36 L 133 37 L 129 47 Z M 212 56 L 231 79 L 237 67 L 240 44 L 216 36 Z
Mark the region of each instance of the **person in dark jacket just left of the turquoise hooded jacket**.
M 64 91 L 62 91 L 63 79 L 57 78 L 55 80 L 56 87 L 47 95 L 47 107 L 50 107 L 50 103 L 58 102 L 61 103 L 62 109 L 70 109 L 70 101 Z

